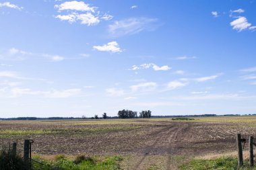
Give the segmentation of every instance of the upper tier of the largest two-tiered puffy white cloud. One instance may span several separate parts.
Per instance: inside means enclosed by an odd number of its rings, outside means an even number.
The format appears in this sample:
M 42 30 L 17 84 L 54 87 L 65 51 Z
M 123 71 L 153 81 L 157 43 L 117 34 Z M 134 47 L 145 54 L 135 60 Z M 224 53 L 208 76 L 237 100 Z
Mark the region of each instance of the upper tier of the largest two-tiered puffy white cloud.
M 83 1 L 66 1 L 61 3 L 61 5 L 55 5 L 59 11 L 63 10 L 75 10 L 75 11 L 90 11 L 95 12 L 96 7 L 90 7 L 90 5 L 84 3 Z

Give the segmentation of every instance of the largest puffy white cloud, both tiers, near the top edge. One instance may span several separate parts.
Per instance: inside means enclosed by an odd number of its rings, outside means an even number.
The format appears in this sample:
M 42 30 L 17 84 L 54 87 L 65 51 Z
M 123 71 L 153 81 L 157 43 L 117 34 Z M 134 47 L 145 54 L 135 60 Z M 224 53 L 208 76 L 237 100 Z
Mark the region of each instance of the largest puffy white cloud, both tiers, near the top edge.
M 55 18 L 69 23 L 80 22 L 87 26 L 95 26 L 100 23 L 100 19 L 107 21 L 113 18 L 113 15 L 107 13 L 101 15 L 100 11 L 97 11 L 98 7 L 92 7 L 84 1 L 66 1 L 60 5 L 55 5 L 55 8 L 59 12 L 67 11 L 65 15 L 59 14 Z

